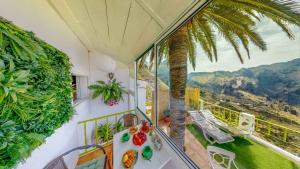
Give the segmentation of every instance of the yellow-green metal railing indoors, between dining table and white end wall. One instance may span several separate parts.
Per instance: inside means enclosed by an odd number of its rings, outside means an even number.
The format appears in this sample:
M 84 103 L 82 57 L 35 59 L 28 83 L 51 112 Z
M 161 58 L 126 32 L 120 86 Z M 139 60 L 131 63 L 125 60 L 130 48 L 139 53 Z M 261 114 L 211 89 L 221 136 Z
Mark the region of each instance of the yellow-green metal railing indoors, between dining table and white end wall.
M 109 114 L 106 116 L 101 116 L 101 117 L 97 117 L 97 118 L 92 118 L 92 119 L 88 119 L 88 120 L 83 120 L 83 121 L 79 121 L 78 125 L 79 127 L 83 127 L 83 142 L 84 145 L 88 145 L 88 126 L 92 125 L 90 133 L 93 133 L 93 138 L 94 139 L 94 143 L 95 144 L 101 144 L 103 146 L 111 144 L 112 140 L 108 140 L 105 142 L 99 142 L 98 139 L 98 126 L 101 124 L 106 124 L 106 125 L 112 125 L 112 124 L 116 124 L 118 122 L 118 118 L 120 118 L 121 116 L 128 114 L 128 113 L 132 113 L 132 112 L 136 112 L 134 109 L 133 110 L 128 110 L 128 111 L 124 111 L 124 112 L 118 112 L 118 113 L 114 113 L 114 114 Z M 91 137 L 90 137 L 91 138 Z M 94 151 L 95 148 L 90 149 L 90 150 L 85 150 L 84 152 L 82 152 L 80 155 L 85 155 L 91 151 Z

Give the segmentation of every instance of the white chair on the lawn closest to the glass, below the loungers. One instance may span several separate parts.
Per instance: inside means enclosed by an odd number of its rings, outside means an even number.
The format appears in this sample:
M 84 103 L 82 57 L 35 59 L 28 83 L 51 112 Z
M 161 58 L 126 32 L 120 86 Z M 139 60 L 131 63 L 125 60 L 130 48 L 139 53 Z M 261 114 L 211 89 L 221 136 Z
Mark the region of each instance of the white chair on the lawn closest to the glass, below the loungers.
M 234 162 L 235 154 L 215 146 L 207 146 L 209 163 L 213 169 L 238 169 Z

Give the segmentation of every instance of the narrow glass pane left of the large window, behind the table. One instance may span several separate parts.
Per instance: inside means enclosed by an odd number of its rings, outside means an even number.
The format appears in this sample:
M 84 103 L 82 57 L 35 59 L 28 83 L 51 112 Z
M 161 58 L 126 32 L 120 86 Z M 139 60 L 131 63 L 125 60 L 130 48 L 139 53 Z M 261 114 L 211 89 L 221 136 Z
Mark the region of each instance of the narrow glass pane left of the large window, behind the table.
M 146 118 L 154 121 L 154 52 L 153 49 L 146 52 L 136 62 L 137 67 L 137 107 L 146 115 Z

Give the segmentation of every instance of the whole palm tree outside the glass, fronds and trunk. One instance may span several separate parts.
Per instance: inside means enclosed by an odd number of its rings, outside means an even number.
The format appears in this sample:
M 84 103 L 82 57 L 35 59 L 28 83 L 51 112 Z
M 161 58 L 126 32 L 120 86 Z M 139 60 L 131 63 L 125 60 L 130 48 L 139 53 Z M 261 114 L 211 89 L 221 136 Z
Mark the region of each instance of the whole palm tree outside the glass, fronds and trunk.
M 196 44 L 200 44 L 211 61 L 217 61 L 218 33 L 243 63 L 240 46 L 246 50 L 249 59 L 250 43 L 262 51 L 267 50 L 255 29 L 263 17 L 271 19 L 294 39 L 289 25 L 300 26 L 300 4 L 291 0 L 214 0 L 160 44 L 158 64 L 167 60 L 170 68 L 170 137 L 179 148 L 183 149 L 184 145 L 187 64 L 189 60 L 193 68 L 196 67 Z

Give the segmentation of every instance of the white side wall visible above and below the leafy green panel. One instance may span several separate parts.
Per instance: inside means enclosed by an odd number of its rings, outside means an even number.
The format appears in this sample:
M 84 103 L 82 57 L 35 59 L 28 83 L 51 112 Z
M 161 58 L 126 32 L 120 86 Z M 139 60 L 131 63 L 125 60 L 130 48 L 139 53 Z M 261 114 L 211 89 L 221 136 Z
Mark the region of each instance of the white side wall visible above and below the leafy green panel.
M 39 38 L 65 52 L 73 64 L 73 73 L 89 75 L 87 49 L 46 0 L 0 0 L 0 16 L 34 32 Z M 82 102 L 75 109 L 76 115 L 72 120 L 47 138 L 18 169 L 41 169 L 59 154 L 80 145 L 77 139 L 77 122 L 87 118 L 89 102 Z M 74 166 L 77 157 L 75 154 L 68 165 Z

